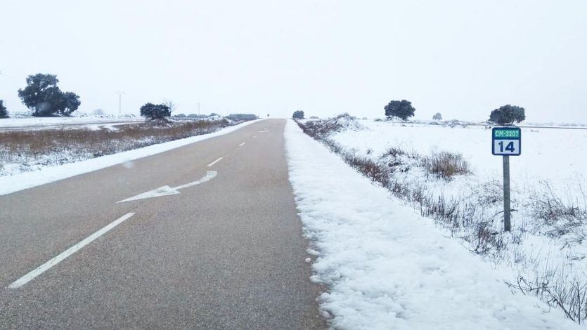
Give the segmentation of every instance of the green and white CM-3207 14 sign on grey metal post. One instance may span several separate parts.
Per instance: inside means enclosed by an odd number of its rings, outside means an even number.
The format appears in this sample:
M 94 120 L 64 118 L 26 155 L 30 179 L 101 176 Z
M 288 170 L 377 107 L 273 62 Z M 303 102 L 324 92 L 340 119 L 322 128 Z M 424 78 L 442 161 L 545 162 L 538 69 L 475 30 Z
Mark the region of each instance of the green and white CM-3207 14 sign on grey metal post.
M 491 153 L 503 157 L 503 230 L 512 229 L 510 208 L 510 156 L 522 154 L 522 131 L 519 127 L 494 127 L 491 130 Z

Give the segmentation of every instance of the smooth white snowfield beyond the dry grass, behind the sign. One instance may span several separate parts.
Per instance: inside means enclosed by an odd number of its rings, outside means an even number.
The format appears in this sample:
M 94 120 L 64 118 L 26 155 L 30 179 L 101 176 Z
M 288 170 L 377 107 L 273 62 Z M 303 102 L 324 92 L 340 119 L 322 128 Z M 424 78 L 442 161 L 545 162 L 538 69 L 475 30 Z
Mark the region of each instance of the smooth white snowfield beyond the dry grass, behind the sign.
M 362 129 L 335 133 L 333 140 L 362 155 L 367 152 L 382 155 L 389 147 L 420 154 L 460 152 L 478 180 L 502 178 L 502 159 L 491 154 L 491 128 L 357 122 Z M 587 129 L 522 128 L 522 155 L 510 157 L 510 172 L 517 189 L 540 180 L 549 180 L 561 190 L 584 183 L 587 179 Z

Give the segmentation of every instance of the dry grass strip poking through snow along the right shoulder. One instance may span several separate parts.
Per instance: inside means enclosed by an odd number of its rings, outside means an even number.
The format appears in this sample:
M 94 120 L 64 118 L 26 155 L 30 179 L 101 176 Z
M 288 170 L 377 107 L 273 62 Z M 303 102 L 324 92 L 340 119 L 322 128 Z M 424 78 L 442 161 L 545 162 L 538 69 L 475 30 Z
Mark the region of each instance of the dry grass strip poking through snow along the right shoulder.
M 522 220 L 505 233 L 500 181 L 478 178 L 466 159 L 455 152 L 422 155 L 404 145 L 375 154 L 371 149 L 358 152 L 352 143 L 337 143 L 333 137 L 340 132 L 368 129 L 352 121 L 354 117 L 344 114 L 298 125 L 363 176 L 449 230 L 467 249 L 494 267 L 512 272 L 514 276 L 505 277 L 506 282 L 524 279 L 512 285 L 514 291 L 538 296 L 583 323 L 587 300 L 578 297 L 587 296 L 585 194 L 562 198 L 547 181 L 518 187 L 512 194 L 512 206 Z M 549 266 L 545 270 L 543 265 Z

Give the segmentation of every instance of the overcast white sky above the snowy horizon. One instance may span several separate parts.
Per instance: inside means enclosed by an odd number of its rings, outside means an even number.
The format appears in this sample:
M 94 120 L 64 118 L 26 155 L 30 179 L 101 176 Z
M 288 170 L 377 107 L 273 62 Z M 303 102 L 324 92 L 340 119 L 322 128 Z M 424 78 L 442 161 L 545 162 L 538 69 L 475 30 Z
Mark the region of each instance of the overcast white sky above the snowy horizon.
M 0 99 L 57 74 L 80 111 L 293 110 L 587 123 L 587 1 L 1 0 Z

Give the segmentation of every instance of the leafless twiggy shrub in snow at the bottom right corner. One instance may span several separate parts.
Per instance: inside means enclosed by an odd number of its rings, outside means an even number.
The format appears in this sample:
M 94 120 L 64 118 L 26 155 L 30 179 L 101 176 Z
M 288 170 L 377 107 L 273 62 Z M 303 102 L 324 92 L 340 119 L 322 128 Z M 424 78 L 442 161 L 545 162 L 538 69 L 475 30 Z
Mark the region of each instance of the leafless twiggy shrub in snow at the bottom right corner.
M 512 289 L 533 294 L 551 307 L 560 308 L 574 322 L 587 319 L 587 282 L 584 278 L 567 278 L 565 270 L 547 269 L 536 272 L 534 279 L 517 277 L 517 282 L 506 282 Z

